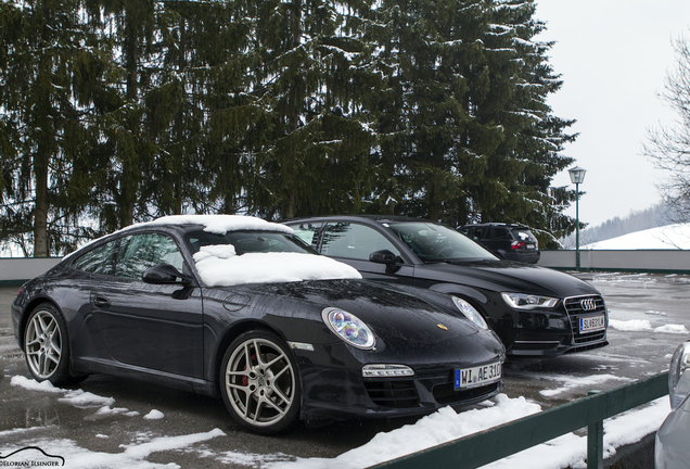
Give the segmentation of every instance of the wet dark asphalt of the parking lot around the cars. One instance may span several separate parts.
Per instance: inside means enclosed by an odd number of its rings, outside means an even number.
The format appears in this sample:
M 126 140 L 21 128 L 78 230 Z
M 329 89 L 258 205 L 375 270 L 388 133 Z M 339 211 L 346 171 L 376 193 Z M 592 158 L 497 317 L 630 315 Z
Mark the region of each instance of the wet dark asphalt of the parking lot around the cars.
M 612 319 L 643 319 L 650 321 L 652 328 L 683 325 L 690 330 L 690 277 L 615 274 L 583 274 L 580 277 L 601 291 Z M 13 385 L 13 378 L 16 381 L 16 377 L 30 376 L 11 329 L 9 312 L 16 291 L 16 288 L 0 289 L 0 456 L 11 448 L 52 440 L 61 442 L 56 445 L 63 452 L 68 445 L 74 446 L 75 454 L 86 457 L 88 462 L 90 454 L 94 458 L 103 453 L 122 454 L 123 448 L 140 442 L 219 429 L 225 436 L 206 439 L 184 451 L 155 451 L 144 461 L 154 466 L 173 462 L 183 468 L 200 465 L 258 468 L 276 455 L 281 455 L 283 460 L 335 457 L 363 445 L 379 432 L 416 421 L 350 421 L 319 429 L 299 426 L 279 436 L 258 436 L 234 424 L 219 400 L 136 381 L 91 376 L 73 388 L 112 397 L 106 411 L 103 411 L 103 403 L 78 405 L 65 400 L 68 390 L 47 392 Z M 584 397 L 591 389 L 608 390 L 629 382 L 626 380 L 667 370 L 669 354 L 688 339 L 688 334 L 622 332 L 610 328 L 611 345 L 604 348 L 555 359 L 520 359 L 506 364 L 503 392 L 509 397 L 525 396 L 542 408 L 552 407 Z M 595 385 L 577 384 L 577 379 L 593 376 L 601 378 Z M 545 390 L 551 390 L 552 395 L 541 392 Z M 145 419 L 154 409 L 164 417 Z

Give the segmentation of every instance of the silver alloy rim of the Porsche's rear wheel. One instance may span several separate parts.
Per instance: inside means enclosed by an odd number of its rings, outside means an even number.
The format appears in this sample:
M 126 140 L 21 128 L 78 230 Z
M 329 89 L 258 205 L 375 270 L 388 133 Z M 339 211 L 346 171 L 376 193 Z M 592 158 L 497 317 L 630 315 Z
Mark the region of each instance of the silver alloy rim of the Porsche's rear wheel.
M 39 380 L 53 376 L 63 352 L 62 333 L 58 319 L 47 310 L 36 313 L 26 328 L 24 341 L 26 362 Z

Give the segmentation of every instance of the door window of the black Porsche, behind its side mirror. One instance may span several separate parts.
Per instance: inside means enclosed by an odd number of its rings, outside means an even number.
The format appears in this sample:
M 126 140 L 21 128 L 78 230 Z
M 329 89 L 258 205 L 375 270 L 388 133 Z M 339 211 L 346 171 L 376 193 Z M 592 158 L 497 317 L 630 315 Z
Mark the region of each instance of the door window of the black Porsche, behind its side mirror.
M 175 241 L 161 233 L 133 234 L 120 241 L 115 275 L 140 279 L 144 270 L 158 264 L 182 271 L 184 259 Z

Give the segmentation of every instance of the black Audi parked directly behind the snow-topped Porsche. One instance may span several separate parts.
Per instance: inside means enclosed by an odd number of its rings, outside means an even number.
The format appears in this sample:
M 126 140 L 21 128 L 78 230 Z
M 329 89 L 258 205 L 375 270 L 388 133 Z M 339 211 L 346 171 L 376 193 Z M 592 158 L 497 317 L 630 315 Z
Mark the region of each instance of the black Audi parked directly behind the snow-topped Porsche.
M 589 283 L 502 261 L 444 225 L 393 216 L 324 216 L 285 224 L 365 278 L 464 300 L 500 337 L 508 355 L 558 356 L 609 343 L 606 306 Z

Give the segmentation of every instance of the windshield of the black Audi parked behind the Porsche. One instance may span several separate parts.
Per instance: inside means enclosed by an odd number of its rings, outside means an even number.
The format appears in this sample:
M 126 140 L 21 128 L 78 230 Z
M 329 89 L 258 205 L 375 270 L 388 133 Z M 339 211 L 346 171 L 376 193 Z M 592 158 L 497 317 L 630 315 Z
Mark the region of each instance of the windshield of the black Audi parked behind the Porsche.
M 471 239 L 443 225 L 405 221 L 389 224 L 388 228 L 424 262 L 498 261 Z

